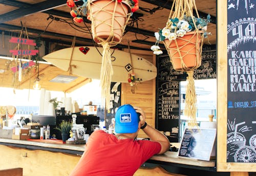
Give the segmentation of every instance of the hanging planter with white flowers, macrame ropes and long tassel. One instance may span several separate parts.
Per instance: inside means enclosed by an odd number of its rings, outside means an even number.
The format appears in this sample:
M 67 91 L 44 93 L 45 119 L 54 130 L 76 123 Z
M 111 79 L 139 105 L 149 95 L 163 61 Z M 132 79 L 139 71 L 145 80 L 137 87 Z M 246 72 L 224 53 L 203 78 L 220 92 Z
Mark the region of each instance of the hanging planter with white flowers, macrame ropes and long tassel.
M 197 17 L 193 15 L 195 9 Z M 151 49 L 154 54 L 162 54 L 159 41 L 163 41 L 173 68 L 188 74 L 184 115 L 188 117 L 188 126 L 197 125 L 197 96 L 194 83 L 194 70 L 201 65 L 203 39 L 207 37 L 206 19 L 199 17 L 195 0 L 174 0 L 166 26 L 155 33 L 156 45 Z

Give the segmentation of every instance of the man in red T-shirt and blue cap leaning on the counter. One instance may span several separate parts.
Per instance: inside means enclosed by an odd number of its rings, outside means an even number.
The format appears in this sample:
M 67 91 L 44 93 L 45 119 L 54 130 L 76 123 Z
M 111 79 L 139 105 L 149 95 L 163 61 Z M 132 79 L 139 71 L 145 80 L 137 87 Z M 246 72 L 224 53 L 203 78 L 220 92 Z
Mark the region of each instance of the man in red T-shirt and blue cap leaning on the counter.
M 140 129 L 151 141 L 136 139 Z M 115 135 L 94 131 L 70 176 L 131 176 L 153 155 L 168 149 L 168 139 L 145 122 L 142 109 L 125 104 L 115 115 Z

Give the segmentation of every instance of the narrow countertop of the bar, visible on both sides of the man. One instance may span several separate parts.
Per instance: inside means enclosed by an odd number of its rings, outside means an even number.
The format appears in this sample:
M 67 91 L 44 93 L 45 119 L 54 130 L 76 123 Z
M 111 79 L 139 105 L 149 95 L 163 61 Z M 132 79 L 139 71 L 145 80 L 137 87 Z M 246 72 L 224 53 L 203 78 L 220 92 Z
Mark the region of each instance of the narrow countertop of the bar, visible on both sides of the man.
M 50 142 L 48 140 L 14 140 L 0 138 L 0 145 L 23 147 L 28 149 L 41 149 L 49 151 L 69 152 L 81 155 L 84 151 L 84 144 L 62 144 L 61 142 Z M 178 152 L 166 151 L 163 155 L 155 155 L 150 161 L 176 163 L 182 165 L 190 165 L 196 167 L 215 167 L 215 161 L 202 161 L 179 158 Z M 207 169 L 208 170 L 208 169 Z

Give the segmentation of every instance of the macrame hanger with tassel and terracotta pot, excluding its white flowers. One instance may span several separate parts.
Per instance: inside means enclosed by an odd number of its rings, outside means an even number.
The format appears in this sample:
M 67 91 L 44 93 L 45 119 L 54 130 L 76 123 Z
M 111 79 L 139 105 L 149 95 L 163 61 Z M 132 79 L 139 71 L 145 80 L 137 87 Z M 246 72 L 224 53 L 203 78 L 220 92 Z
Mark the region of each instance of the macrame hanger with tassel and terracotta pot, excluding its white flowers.
M 194 20 L 193 7 L 195 8 L 197 17 L 199 18 L 195 0 L 174 0 L 168 19 L 174 19 L 177 17 L 179 20 L 181 20 L 184 18 L 184 15 L 191 16 L 196 30 L 193 32 L 188 32 L 187 35 L 189 35 L 189 37 L 177 37 L 176 40 L 169 41 L 168 39 L 165 39 L 163 41 L 164 46 L 168 51 L 170 61 L 173 63 L 174 69 L 186 72 L 188 75 L 186 78 L 187 85 L 184 115 L 188 117 L 189 128 L 198 127 L 196 120 L 197 95 L 193 75 L 194 70 L 201 65 L 201 54 L 204 37 L 203 33 L 197 28 L 196 22 Z M 172 23 L 169 23 L 168 20 L 166 23 L 166 28 L 170 28 L 171 25 Z M 188 57 L 188 54 L 192 57 L 196 57 L 193 67 L 188 67 L 184 62 L 184 58 Z M 178 61 L 178 64 L 175 64 L 175 61 Z M 178 67 L 176 65 L 178 65 Z

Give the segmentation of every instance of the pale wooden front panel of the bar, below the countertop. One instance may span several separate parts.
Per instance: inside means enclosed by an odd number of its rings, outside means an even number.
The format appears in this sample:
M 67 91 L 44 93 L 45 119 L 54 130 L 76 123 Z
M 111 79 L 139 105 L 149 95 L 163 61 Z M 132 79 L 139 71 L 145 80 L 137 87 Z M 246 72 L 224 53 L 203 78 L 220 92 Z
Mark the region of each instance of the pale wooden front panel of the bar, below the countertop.
M 11 147 L 0 145 L 1 160 L 0 160 L 0 175 L 2 169 L 10 169 L 19 167 L 19 171 L 23 169 L 25 176 L 68 176 L 78 163 L 80 156 L 70 155 L 61 152 L 52 152 L 45 150 L 29 150 L 25 148 Z M 21 169 L 22 168 L 22 169 Z M 19 176 L 17 174 L 15 176 Z M 160 166 L 156 168 L 139 168 L 135 174 L 140 175 L 173 175 L 181 176 L 176 173 L 169 173 Z M 6 175 L 7 176 L 7 175 Z M 8 172 L 8 176 L 12 176 Z

